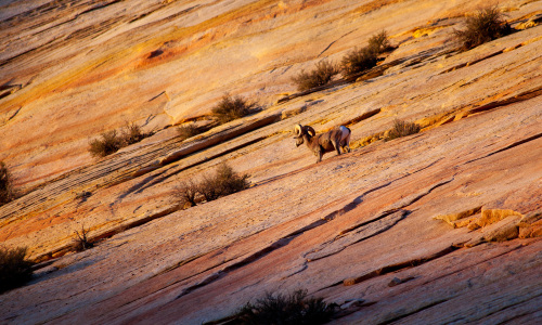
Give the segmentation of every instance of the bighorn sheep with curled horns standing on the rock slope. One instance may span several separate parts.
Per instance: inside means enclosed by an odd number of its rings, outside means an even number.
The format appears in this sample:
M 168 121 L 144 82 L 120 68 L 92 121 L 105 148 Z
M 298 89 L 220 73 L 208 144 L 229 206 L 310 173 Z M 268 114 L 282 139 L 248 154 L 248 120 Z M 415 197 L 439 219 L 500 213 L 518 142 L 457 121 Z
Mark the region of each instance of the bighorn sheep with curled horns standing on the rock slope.
M 337 151 L 337 155 L 340 155 L 339 147 L 343 152 L 350 152 L 350 129 L 347 127 L 338 127 L 328 132 L 321 133 L 317 135 L 313 128 L 309 126 L 296 125 L 294 128 L 294 133 L 296 136 L 296 146 L 307 143 L 307 147 L 314 153 L 318 157 L 317 162 L 322 161 L 322 156 L 325 153 Z

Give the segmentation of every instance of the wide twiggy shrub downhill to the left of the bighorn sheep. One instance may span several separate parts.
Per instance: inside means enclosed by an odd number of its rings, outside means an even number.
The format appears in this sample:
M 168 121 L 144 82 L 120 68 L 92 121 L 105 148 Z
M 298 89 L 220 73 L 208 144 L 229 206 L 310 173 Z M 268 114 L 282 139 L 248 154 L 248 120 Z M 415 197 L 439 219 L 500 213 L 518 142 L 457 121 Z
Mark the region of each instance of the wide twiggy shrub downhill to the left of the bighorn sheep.
M 248 188 L 248 174 L 238 174 L 228 164 L 223 162 L 214 176 L 205 176 L 199 183 L 183 182 L 177 187 L 180 203 L 184 206 L 195 206 L 197 197 L 210 202 L 245 188 Z

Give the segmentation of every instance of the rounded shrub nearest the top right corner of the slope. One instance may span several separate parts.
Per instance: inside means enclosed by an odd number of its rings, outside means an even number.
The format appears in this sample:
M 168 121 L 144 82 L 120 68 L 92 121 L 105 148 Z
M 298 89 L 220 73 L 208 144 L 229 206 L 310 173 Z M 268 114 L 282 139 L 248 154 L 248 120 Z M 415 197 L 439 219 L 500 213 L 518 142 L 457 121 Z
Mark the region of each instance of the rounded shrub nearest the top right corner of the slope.
M 504 15 L 495 6 L 480 9 L 465 22 L 465 30 L 455 30 L 455 37 L 463 44 L 463 50 L 476 48 L 512 32 Z

